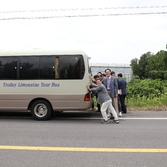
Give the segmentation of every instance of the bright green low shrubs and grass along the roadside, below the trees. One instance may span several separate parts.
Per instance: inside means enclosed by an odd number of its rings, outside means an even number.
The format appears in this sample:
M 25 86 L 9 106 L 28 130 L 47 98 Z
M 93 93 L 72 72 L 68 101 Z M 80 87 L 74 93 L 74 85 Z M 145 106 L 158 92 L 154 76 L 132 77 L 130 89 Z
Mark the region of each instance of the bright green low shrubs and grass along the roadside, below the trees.
M 137 110 L 167 110 L 167 80 L 133 79 L 127 85 L 128 108 Z

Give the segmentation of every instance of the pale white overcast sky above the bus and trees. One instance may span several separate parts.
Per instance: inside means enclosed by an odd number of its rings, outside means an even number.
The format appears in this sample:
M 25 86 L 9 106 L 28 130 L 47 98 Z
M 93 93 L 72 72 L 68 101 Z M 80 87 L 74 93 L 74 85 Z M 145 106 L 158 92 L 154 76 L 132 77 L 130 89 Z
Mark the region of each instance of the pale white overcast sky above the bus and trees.
M 152 12 L 166 13 L 134 15 Z M 166 0 L 0 0 L 0 50 L 79 49 L 90 63 L 130 64 L 167 50 L 166 20 Z

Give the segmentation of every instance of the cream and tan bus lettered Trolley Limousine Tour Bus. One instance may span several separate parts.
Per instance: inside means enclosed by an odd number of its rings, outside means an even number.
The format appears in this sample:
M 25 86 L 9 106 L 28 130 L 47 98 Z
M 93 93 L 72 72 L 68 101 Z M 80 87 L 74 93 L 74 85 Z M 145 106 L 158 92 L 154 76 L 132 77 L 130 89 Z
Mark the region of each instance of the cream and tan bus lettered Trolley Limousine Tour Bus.
M 0 51 L 0 111 L 47 120 L 56 111 L 90 108 L 88 61 L 77 50 Z

